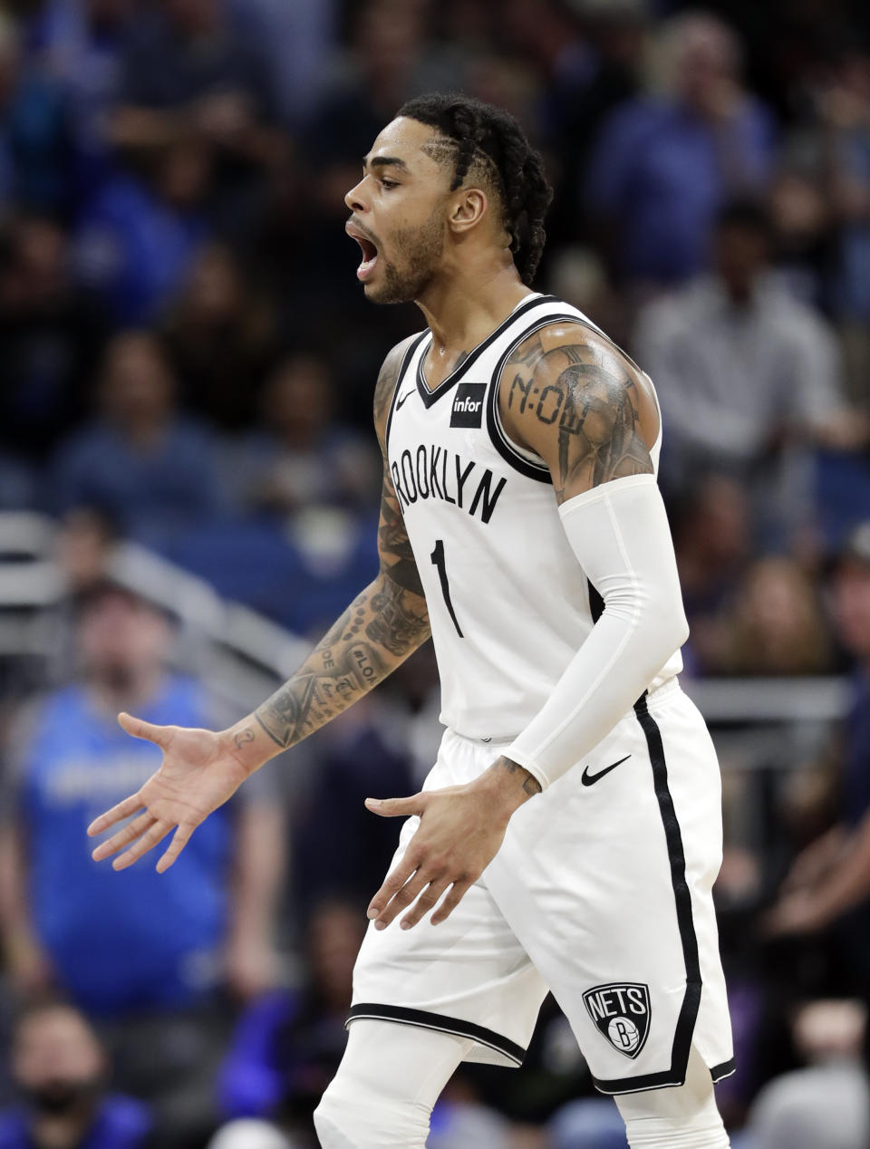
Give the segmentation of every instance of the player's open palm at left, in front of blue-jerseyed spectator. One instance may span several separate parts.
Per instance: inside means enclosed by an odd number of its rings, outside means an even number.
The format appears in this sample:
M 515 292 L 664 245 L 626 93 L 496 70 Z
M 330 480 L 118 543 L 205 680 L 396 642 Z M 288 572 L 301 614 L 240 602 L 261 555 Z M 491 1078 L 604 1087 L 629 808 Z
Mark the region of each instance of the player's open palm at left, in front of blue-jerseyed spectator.
M 157 872 L 163 873 L 187 845 L 197 826 L 232 797 L 249 770 L 233 753 L 229 731 L 155 726 L 128 714 L 118 715 L 118 722 L 128 734 L 159 746 L 163 762 L 136 794 L 100 815 L 87 827 L 88 835 L 101 834 L 141 811 L 138 818 L 98 846 L 93 858 L 102 862 L 125 850 L 113 862 L 115 870 L 125 870 L 175 830 L 169 849 L 157 862 Z

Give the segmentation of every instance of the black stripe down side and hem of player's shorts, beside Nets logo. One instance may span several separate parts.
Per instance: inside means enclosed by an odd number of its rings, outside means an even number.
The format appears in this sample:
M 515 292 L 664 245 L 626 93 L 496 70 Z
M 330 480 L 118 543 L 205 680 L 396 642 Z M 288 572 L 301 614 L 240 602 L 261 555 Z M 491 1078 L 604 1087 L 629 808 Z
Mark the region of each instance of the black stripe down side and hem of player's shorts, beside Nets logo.
M 662 732 L 659 724 L 649 714 L 647 707 L 647 693 L 634 703 L 634 714 L 646 738 L 649 761 L 653 766 L 653 785 L 655 796 L 659 801 L 659 810 L 664 826 L 664 839 L 668 843 L 668 858 L 671 867 L 671 886 L 673 888 L 673 901 L 677 905 L 677 925 L 683 946 L 683 961 L 686 966 L 686 992 L 683 997 L 683 1005 L 677 1018 L 677 1026 L 673 1033 L 673 1046 L 671 1047 L 671 1066 L 660 1073 L 646 1073 L 632 1078 L 614 1078 L 608 1081 L 593 1077 L 592 1081 L 601 1093 L 637 1093 L 641 1089 L 663 1089 L 669 1086 L 680 1086 L 686 1080 L 686 1067 L 688 1055 L 692 1049 L 692 1034 L 694 1033 L 695 1019 L 701 1004 L 701 963 L 698 956 L 698 938 L 695 936 L 694 921 L 692 920 L 692 895 L 686 882 L 686 855 L 683 849 L 683 834 L 680 833 L 677 815 L 673 809 L 673 799 L 668 786 L 668 765 L 664 761 L 664 747 L 662 746 Z M 717 1065 L 715 1071 L 726 1075 L 731 1072 L 727 1069 L 731 1062 Z

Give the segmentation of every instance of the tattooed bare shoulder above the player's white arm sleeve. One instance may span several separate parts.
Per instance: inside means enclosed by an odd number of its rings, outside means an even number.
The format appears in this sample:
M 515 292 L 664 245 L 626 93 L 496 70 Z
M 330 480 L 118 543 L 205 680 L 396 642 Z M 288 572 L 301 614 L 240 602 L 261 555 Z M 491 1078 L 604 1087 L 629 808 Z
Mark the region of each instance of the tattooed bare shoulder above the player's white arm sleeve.
M 639 430 L 637 377 L 603 340 L 546 348 L 536 333 L 511 355 L 506 371 L 508 411 L 556 429 L 560 502 L 572 487 L 653 473 Z

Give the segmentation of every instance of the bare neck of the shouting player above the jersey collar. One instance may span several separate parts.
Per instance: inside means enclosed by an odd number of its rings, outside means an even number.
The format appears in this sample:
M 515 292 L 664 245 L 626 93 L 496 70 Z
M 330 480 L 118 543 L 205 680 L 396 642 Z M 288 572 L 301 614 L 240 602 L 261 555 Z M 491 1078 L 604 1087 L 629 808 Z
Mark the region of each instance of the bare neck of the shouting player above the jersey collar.
M 416 300 L 432 331 L 431 355 L 449 362 L 483 342 L 510 315 L 529 288 L 513 262 L 456 269 Z

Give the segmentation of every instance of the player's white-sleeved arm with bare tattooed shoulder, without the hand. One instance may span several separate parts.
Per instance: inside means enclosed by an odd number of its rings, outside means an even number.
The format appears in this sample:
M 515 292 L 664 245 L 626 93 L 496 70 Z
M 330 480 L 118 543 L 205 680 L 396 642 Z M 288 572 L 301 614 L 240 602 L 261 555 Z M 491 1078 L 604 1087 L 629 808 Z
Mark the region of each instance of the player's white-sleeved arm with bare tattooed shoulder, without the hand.
M 505 751 L 545 787 L 630 712 L 688 629 L 650 458 L 659 410 L 646 376 L 596 332 L 552 325 L 517 349 L 499 398 L 507 433 L 549 466 L 565 537 L 602 603 Z

